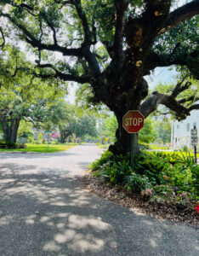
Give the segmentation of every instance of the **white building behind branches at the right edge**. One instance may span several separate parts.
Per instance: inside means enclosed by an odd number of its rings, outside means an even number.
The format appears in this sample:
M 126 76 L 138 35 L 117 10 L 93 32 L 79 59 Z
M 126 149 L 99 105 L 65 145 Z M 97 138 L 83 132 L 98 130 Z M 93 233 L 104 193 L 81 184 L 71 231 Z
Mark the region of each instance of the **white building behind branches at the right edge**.
M 172 135 L 171 135 L 171 143 L 173 149 L 183 148 L 187 146 L 188 148 L 192 148 L 190 144 L 190 130 L 193 129 L 194 125 L 196 125 L 197 136 L 199 136 L 199 111 L 193 110 L 190 112 L 190 116 L 188 116 L 185 120 L 182 121 L 174 121 L 172 124 Z M 198 141 L 198 137 L 197 137 Z M 198 145 L 198 144 L 197 144 Z

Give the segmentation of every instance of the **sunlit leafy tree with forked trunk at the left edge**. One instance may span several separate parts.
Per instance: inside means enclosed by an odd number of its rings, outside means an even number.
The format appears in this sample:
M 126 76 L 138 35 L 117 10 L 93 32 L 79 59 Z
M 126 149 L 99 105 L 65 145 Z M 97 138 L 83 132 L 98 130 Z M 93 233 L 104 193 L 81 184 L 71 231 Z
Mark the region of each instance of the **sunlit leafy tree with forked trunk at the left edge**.
M 65 84 L 41 79 L 16 48 L 4 47 L 0 56 L 0 122 L 6 141 L 16 142 L 21 119 L 34 125 L 44 121 L 48 108 L 64 96 Z

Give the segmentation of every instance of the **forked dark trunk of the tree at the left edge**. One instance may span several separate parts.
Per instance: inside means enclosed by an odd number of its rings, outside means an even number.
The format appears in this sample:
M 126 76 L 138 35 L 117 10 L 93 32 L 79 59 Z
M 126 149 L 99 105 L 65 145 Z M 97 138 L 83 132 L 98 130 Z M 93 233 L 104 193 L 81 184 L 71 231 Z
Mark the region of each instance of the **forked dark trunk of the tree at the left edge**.
M 16 143 L 20 119 L 11 119 L 10 122 L 8 122 L 7 119 L 1 119 L 1 124 L 4 140 L 7 142 Z

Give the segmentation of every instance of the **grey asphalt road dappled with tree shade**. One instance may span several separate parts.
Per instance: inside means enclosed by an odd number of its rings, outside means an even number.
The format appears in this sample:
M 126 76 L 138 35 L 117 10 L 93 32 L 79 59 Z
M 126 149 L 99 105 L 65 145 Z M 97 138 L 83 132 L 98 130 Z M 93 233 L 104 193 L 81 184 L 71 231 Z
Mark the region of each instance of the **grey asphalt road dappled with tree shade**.
M 158 221 L 82 189 L 101 151 L 0 154 L 0 256 L 194 256 L 198 230 Z

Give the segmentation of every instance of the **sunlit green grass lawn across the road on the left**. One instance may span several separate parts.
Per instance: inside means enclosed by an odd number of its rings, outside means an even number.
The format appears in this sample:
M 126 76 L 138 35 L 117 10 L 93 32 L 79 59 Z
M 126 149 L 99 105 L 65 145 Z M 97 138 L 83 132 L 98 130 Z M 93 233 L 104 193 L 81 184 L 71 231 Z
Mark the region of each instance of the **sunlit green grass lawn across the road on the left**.
M 0 149 L 1 151 L 6 151 L 6 152 L 37 152 L 37 153 L 56 153 L 60 151 L 65 151 L 69 148 L 72 148 L 74 146 L 77 146 L 77 143 L 65 143 L 65 144 L 58 144 L 58 145 L 53 145 L 53 144 L 33 144 L 33 143 L 26 143 L 27 148 L 14 148 L 14 149 Z M 48 148 L 47 148 L 48 147 Z

